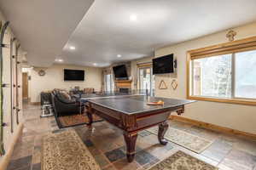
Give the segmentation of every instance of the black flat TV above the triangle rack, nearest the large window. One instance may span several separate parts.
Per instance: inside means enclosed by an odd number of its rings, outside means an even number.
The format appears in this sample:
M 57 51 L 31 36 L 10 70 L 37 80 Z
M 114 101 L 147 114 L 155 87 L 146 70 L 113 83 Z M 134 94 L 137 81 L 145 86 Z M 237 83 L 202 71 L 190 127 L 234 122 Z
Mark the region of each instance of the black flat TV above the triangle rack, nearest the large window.
M 173 73 L 173 54 L 152 59 L 153 74 Z

